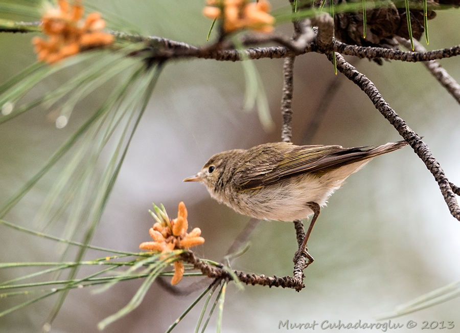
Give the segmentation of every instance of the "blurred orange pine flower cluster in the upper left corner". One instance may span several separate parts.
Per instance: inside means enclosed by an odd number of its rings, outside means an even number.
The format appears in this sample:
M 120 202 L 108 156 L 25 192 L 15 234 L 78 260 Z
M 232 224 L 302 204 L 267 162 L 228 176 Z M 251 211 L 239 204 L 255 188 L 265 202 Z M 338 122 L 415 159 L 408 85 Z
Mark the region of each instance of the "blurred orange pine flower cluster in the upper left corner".
M 32 43 L 39 61 L 57 62 L 81 51 L 110 45 L 114 37 L 101 30 L 105 21 L 101 14 L 90 13 L 83 20 L 84 8 L 80 0 L 71 6 L 66 0 L 58 0 L 59 8 L 50 8 L 41 18 L 41 29 L 48 40 L 34 37 Z

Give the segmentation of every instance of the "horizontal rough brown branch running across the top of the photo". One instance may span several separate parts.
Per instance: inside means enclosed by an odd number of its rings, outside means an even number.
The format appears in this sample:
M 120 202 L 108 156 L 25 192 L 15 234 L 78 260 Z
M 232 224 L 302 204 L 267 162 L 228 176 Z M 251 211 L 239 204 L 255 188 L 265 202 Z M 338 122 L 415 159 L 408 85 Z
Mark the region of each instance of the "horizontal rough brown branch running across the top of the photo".
M 311 19 L 311 25 L 321 25 L 327 15 L 319 15 Z M 315 21 L 316 19 L 316 21 Z M 308 26 L 308 21 L 305 20 Z M 14 22 L 14 26 L 8 29 L 4 29 L 4 32 L 35 32 L 36 27 L 40 22 Z M 325 31 L 323 29 L 323 31 Z M 128 42 L 144 42 L 148 46 L 148 49 L 144 51 L 151 52 L 151 58 L 157 61 L 167 59 L 178 59 L 178 58 L 202 58 L 202 59 L 215 59 L 218 61 L 242 61 L 244 59 L 262 59 L 262 58 L 287 58 L 296 55 L 305 54 L 308 52 L 321 52 L 325 53 L 329 47 L 325 48 L 323 41 L 328 41 L 329 37 L 319 38 L 319 45 L 313 41 L 315 36 L 314 29 L 304 29 L 301 36 L 296 40 L 292 41 L 289 47 L 286 46 L 275 46 L 275 47 L 262 47 L 262 48 L 250 48 L 246 50 L 221 50 L 215 47 L 196 47 L 189 45 L 185 42 L 179 42 L 168 38 L 156 37 L 156 36 L 142 36 L 138 34 L 127 34 L 119 31 L 109 31 L 111 34 L 116 36 L 118 39 L 125 40 Z M 326 31 L 325 31 L 326 32 Z M 247 39 L 247 43 L 259 43 L 268 42 L 269 37 L 263 37 L 257 39 L 250 37 Z M 273 34 L 271 41 L 282 42 L 286 45 L 288 39 L 281 38 L 278 34 Z M 158 48 L 158 47 L 161 48 Z M 326 50 L 325 50 L 326 49 Z M 296 50 L 296 51 L 294 51 Z M 332 51 L 339 52 L 344 55 L 354 55 L 360 58 L 385 58 L 389 60 L 401 60 L 401 61 L 429 61 L 443 58 L 450 58 L 460 55 L 460 45 L 452 48 L 446 48 L 442 50 L 433 50 L 428 52 L 403 52 L 400 50 L 385 49 L 385 48 L 372 48 L 372 47 L 358 47 L 354 45 L 348 45 L 340 41 L 334 40 L 332 45 Z M 241 53 L 245 55 L 242 56 Z

